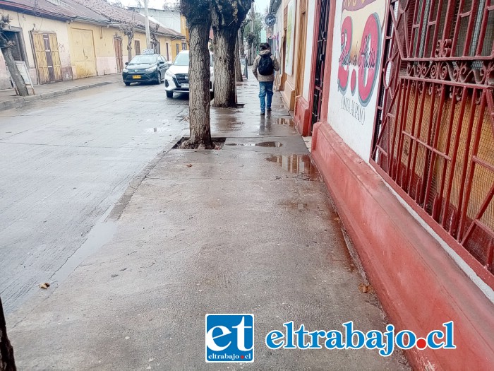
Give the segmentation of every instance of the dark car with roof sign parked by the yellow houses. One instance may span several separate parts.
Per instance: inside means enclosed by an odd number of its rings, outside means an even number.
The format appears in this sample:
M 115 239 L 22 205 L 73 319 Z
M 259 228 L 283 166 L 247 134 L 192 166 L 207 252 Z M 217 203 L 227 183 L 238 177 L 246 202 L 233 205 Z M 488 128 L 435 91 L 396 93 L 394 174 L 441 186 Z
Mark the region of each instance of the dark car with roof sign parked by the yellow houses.
M 170 64 L 159 54 L 139 54 L 126 62 L 122 71 L 123 83 L 155 82 L 160 84 Z

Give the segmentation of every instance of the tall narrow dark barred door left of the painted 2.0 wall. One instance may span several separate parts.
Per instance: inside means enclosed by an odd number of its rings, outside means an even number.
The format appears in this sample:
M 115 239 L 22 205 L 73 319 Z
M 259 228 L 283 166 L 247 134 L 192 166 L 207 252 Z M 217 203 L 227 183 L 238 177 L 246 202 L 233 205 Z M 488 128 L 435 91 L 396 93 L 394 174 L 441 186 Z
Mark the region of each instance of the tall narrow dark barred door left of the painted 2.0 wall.
M 320 121 L 321 102 L 323 100 L 324 69 L 327 45 L 327 23 L 330 15 L 330 1 L 318 1 L 318 39 L 316 40 L 317 51 L 315 54 L 315 78 L 312 96 L 312 126 Z

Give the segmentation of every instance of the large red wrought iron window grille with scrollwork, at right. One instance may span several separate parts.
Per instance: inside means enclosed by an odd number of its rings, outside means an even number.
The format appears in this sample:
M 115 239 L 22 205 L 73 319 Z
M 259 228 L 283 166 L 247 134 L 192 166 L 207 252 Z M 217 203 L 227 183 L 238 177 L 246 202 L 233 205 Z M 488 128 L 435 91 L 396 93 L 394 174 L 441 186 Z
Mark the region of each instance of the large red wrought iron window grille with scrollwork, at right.
M 387 19 L 371 160 L 493 286 L 494 0 L 390 0 Z

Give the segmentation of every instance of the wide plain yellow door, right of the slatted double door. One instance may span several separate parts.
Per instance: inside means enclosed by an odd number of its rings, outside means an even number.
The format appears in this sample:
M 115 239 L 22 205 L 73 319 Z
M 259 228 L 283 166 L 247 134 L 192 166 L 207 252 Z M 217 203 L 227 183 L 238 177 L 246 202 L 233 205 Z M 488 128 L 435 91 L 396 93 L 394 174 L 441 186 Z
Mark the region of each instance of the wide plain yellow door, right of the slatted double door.
M 73 64 L 76 66 L 77 78 L 96 76 L 95 47 L 92 30 L 72 28 Z

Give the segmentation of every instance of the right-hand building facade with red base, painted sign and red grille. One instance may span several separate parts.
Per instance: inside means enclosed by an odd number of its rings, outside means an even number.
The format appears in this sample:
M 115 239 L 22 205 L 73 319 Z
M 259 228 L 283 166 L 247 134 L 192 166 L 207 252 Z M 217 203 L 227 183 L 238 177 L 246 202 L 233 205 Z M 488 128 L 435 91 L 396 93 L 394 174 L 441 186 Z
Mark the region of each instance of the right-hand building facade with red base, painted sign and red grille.
M 388 321 L 424 336 L 454 321 L 456 351 L 406 351 L 418 369 L 488 368 L 493 4 L 304 3 L 296 1 L 294 11 L 302 34 L 306 11 L 306 45 L 295 42 L 296 56 L 305 51 L 304 66 L 294 61 L 290 75 L 289 48 L 281 47 L 286 77 L 279 88 L 287 104 L 295 91 L 297 129 L 312 135 L 313 160 Z M 282 40 L 289 38 L 287 23 Z

